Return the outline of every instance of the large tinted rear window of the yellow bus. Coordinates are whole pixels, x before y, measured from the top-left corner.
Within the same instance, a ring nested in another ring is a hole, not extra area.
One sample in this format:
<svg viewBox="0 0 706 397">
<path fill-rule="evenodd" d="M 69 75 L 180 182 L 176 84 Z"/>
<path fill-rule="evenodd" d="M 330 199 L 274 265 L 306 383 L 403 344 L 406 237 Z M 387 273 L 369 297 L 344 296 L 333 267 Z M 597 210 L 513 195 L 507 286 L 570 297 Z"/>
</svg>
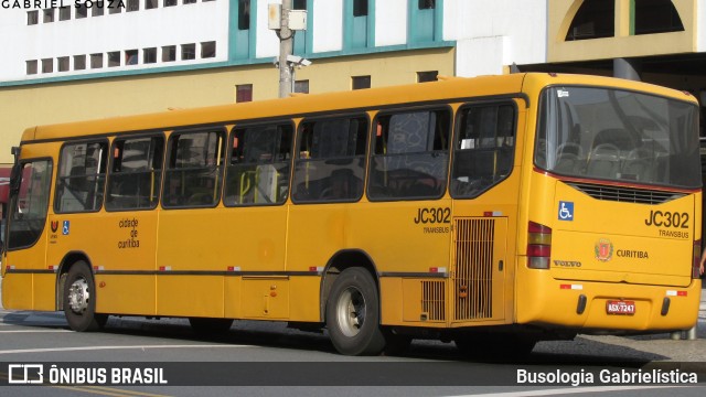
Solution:
<svg viewBox="0 0 706 397">
<path fill-rule="evenodd" d="M 698 189 L 697 107 L 628 90 L 543 92 L 535 164 L 559 175 Z"/>
</svg>

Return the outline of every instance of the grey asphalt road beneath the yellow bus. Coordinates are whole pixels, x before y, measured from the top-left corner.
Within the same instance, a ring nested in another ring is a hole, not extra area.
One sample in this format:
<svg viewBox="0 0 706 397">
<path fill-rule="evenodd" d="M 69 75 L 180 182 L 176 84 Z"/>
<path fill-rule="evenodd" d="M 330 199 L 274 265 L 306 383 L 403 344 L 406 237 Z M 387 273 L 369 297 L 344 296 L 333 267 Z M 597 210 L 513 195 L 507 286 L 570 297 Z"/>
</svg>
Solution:
<svg viewBox="0 0 706 397">
<path fill-rule="evenodd" d="M 2 386 L 0 395 L 703 396 L 706 384 L 675 387 L 598 382 L 603 369 L 610 374 L 678 369 L 698 373 L 699 379 L 706 380 L 706 298 L 702 299 L 699 340 L 675 341 L 666 334 L 579 336 L 542 342 L 522 362 L 468 360 L 452 344 L 428 341 L 415 341 L 404 356 L 347 357 L 335 353 L 325 334 L 268 322 L 236 322 L 217 339 L 197 337 L 181 319 L 111 318 L 104 332 L 75 333 L 67 330 L 62 313 L 0 309 L 0 385 L 7 385 L 10 376 L 17 378 L 17 374 L 9 374 L 9 365 L 20 363 L 43 364 L 45 377 L 52 364 L 68 368 L 66 376 L 71 371 L 77 376 L 76 368 L 94 374 L 103 368 L 107 378 L 114 368 L 130 369 L 132 380 L 137 372 L 158 368 L 168 382 L 154 386 Z M 517 385 L 521 371 L 568 374 L 577 386 Z M 596 378 L 587 379 L 589 373 Z M 146 377 L 141 375 L 140 380 Z"/>
</svg>

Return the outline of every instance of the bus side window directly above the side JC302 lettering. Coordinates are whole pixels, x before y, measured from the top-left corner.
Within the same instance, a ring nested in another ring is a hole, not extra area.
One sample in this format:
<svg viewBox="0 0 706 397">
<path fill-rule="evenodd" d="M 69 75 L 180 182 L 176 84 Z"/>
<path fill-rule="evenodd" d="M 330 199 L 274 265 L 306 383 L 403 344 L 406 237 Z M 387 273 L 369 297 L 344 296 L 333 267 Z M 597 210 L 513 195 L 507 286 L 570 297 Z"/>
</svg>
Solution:
<svg viewBox="0 0 706 397">
<path fill-rule="evenodd" d="M 450 111 L 383 115 L 374 122 L 368 197 L 439 198 L 446 191 Z"/>
</svg>

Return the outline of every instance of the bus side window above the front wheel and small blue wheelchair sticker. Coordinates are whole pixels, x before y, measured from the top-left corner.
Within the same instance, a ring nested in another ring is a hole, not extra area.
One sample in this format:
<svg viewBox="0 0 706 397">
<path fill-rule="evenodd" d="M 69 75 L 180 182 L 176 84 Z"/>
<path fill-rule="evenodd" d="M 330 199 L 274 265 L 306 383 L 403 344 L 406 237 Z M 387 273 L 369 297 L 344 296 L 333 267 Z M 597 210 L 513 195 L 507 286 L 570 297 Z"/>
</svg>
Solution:
<svg viewBox="0 0 706 397">
<path fill-rule="evenodd" d="M 65 144 L 58 160 L 54 211 L 77 213 L 100 210 L 107 160 L 107 141 Z"/>
</svg>

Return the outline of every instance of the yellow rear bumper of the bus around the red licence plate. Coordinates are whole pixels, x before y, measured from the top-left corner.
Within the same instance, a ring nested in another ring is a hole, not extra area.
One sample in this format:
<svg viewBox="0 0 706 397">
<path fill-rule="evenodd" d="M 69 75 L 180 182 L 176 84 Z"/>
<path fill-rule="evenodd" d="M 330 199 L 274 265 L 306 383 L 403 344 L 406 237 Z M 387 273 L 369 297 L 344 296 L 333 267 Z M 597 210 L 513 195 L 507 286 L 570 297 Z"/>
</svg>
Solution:
<svg viewBox="0 0 706 397">
<path fill-rule="evenodd" d="M 625 333 L 686 330 L 698 319 L 702 281 L 688 287 L 555 280 L 544 270 L 517 278 L 515 322 L 579 332 Z M 607 302 L 634 302 L 633 314 L 609 314 Z"/>
</svg>

